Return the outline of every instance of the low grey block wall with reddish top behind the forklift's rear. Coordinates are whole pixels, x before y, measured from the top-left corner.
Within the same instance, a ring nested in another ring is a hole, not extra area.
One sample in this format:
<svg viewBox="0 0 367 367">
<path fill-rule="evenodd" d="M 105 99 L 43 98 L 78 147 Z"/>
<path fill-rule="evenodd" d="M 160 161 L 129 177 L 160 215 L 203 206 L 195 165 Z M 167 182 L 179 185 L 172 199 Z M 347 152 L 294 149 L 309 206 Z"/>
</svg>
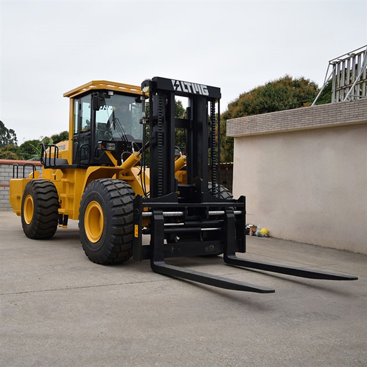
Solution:
<svg viewBox="0 0 367 367">
<path fill-rule="evenodd" d="M 11 160 L 11 159 L 0 159 L 0 210 L 13 210 L 9 204 L 9 181 L 13 178 L 13 165 L 18 164 L 18 178 L 23 177 L 23 166 L 24 176 L 32 172 L 32 166 L 28 164 L 34 164 L 37 171 L 40 171 L 42 175 L 42 165 L 38 161 L 28 160 Z M 17 177 L 17 168 L 14 169 L 15 178 Z"/>
</svg>

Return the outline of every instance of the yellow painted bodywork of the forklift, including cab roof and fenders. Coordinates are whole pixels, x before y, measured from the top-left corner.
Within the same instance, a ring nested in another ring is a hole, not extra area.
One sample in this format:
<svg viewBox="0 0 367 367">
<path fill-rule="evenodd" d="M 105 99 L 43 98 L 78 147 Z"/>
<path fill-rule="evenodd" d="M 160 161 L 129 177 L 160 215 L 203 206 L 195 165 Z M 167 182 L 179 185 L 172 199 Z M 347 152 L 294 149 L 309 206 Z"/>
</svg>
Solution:
<svg viewBox="0 0 367 367">
<path fill-rule="evenodd" d="M 141 88 L 136 85 L 122 84 L 105 80 L 91 81 L 83 84 L 77 88 L 74 88 L 64 94 L 64 97 L 70 99 L 70 111 L 69 111 L 69 140 L 60 142 L 58 147 L 58 158 L 66 159 L 68 164 L 72 164 L 73 157 L 73 132 L 75 130 L 75 111 L 74 100 L 80 95 L 87 93 L 90 90 L 111 90 L 126 92 L 129 95 L 142 96 L 143 92 Z M 54 151 L 50 152 L 46 150 L 46 154 L 50 155 L 50 158 L 54 157 Z M 118 164 L 114 156 L 106 151 L 106 154 L 110 158 L 113 166 L 101 165 L 101 166 L 89 166 L 87 168 L 43 168 L 42 177 L 39 176 L 39 171 L 31 173 L 28 178 L 13 178 L 10 180 L 10 204 L 13 207 L 13 211 L 20 216 L 22 197 L 27 182 L 31 179 L 43 178 L 53 182 L 57 189 L 59 198 L 59 214 L 67 215 L 69 219 L 78 219 L 79 207 L 81 197 L 86 186 L 93 180 L 99 178 L 117 178 L 127 182 L 135 195 L 144 195 L 143 182 L 146 192 L 149 192 L 149 168 L 141 171 L 137 164 L 140 161 L 141 154 L 133 152 L 122 164 Z M 177 159 L 175 164 L 176 177 L 178 182 L 184 182 L 186 179 L 186 172 L 180 170 L 186 164 L 186 157 L 181 156 Z M 144 172 L 145 177 L 143 177 Z"/>
</svg>

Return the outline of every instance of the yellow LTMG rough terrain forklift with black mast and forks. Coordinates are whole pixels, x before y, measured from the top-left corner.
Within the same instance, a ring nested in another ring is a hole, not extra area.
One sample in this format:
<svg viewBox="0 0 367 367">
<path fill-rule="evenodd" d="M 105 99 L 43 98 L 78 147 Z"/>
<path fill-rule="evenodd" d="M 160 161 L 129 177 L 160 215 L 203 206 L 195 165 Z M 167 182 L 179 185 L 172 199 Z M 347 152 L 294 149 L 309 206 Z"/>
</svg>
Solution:
<svg viewBox="0 0 367 367">
<path fill-rule="evenodd" d="M 185 118 L 175 117 L 176 96 L 187 98 Z M 42 178 L 32 167 L 28 177 L 10 182 L 10 202 L 27 237 L 50 238 L 77 219 L 83 250 L 95 263 L 150 259 L 155 272 L 232 290 L 274 292 L 165 258 L 223 254 L 234 266 L 357 279 L 236 256 L 246 251 L 245 197 L 235 200 L 220 185 L 220 88 L 154 77 L 141 87 L 92 81 L 64 97 L 69 140 L 42 145 Z M 176 129 L 185 132 L 186 155 Z"/>
</svg>

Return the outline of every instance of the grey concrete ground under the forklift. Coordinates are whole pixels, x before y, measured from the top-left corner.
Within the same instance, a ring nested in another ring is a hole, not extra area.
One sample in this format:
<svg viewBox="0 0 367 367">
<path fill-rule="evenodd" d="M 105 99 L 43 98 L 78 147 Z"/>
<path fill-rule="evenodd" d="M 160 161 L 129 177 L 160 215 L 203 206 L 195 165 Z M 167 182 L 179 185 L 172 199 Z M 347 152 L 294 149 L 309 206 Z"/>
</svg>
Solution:
<svg viewBox="0 0 367 367">
<path fill-rule="evenodd" d="M 0 231 L 2 367 L 367 365 L 366 255 L 247 237 L 250 259 L 359 277 L 343 282 L 245 270 L 220 256 L 170 260 L 276 289 L 255 294 L 167 278 L 148 261 L 91 263 L 73 221 L 35 241 L 0 212 Z"/>
</svg>

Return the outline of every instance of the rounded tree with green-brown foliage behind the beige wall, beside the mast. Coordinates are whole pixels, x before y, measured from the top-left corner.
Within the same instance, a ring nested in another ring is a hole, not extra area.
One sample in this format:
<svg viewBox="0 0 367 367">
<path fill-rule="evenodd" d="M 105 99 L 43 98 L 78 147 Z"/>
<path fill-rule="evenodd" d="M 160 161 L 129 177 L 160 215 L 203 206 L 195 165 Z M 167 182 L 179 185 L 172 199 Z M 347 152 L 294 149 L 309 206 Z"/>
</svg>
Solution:
<svg viewBox="0 0 367 367">
<path fill-rule="evenodd" d="M 226 136 L 227 120 L 311 106 L 318 91 L 318 85 L 309 79 L 285 75 L 241 94 L 221 115 L 221 161 L 233 161 L 233 138 Z"/>
</svg>

